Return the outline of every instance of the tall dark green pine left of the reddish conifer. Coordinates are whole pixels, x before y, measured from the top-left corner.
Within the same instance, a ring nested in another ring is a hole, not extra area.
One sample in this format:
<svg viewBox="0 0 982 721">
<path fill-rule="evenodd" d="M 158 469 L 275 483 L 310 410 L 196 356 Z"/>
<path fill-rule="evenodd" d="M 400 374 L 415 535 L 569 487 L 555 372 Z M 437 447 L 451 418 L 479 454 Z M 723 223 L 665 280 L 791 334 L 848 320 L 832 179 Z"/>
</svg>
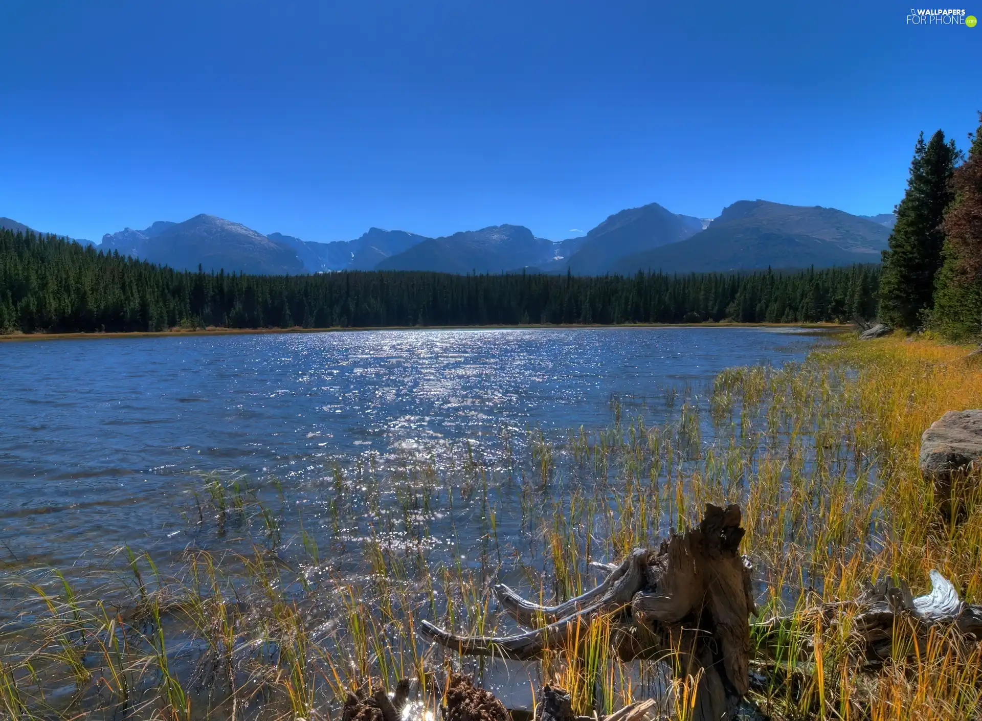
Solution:
<svg viewBox="0 0 982 721">
<path fill-rule="evenodd" d="M 955 143 L 946 142 L 941 131 L 927 144 L 923 133 L 917 139 L 907 191 L 897 206 L 890 250 L 883 251 L 880 319 L 888 325 L 913 330 L 931 308 L 935 274 L 942 264 L 942 223 L 952 201 L 949 183 L 957 155 Z"/>
</svg>

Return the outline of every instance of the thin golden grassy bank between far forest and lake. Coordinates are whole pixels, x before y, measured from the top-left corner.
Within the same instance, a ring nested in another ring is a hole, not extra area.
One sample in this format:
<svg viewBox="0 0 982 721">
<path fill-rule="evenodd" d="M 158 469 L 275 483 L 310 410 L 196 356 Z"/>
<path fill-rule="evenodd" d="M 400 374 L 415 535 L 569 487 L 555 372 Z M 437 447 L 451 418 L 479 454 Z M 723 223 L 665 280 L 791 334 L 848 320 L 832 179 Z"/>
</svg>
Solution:
<svg viewBox="0 0 982 721">
<path fill-rule="evenodd" d="M 596 330 L 599 328 L 801 328 L 845 332 L 849 323 L 619 323 L 550 325 L 385 325 L 352 328 L 196 328 L 194 330 L 116 331 L 108 333 L 9 333 L 0 335 L 0 343 L 19 341 L 98 340 L 103 338 L 167 338 L 181 336 L 275 335 L 294 333 L 364 333 L 373 330 Z"/>
</svg>

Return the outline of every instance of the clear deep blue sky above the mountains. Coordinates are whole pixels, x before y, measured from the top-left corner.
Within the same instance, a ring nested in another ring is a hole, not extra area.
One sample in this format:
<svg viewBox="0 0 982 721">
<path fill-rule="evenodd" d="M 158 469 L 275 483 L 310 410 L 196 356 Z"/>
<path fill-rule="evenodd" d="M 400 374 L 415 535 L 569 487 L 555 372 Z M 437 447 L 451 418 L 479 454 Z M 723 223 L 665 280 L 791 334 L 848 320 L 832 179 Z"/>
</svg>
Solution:
<svg viewBox="0 0 982 721">
<path fill-rule="evenodd" d="M 982 26 L 909 5 L 3 0 L 0 215 L 559 240 L 652 201 L 888 211 L 918 131 L 964 147 L 982 109 Z"/>
</svg>

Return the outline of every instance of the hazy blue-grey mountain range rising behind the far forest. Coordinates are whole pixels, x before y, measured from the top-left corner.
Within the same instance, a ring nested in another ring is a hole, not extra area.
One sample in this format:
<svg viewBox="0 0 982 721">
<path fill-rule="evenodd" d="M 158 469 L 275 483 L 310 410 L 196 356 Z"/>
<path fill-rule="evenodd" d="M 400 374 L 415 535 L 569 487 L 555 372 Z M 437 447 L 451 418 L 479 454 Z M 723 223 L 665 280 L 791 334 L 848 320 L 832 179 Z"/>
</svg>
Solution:
<svg viewBox="0 0 982 721">
<path fill-rule="evenodd" d="M 447 273 L 542 272 L 602 275 L 638 270 L 682 273 L 875 263 L 895 216 L 850 215 L 835 208 L 739 200 L 714 219 L 673 213 L 658 203 L 609 216 L 585 236 L 551 241 L 518 225 L 427 238 L 370 228 L 352 241 L 317 243 L 214 215 L 106 234 L 96 248 L 179 270 L 260 274 L 338 270 Z M 0 218 L 0 227 L 27 226 Z M 78 241 L 94 245 L 90 241 Z"/>
</svg>

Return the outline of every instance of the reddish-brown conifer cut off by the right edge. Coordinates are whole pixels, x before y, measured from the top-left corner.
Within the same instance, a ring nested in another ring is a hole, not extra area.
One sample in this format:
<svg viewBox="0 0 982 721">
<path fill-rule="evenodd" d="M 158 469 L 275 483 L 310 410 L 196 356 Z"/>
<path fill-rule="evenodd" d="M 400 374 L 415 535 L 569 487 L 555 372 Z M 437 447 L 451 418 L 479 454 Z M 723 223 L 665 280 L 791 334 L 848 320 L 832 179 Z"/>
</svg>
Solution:
<svg viewBox="0 0 982 721">
<path fill-rule="evenodd" d="M 955 200 L 945 214 L 944 266 L 938 273 L 934 320 L 952 340 L 982 331 L 982 113 L 968 159 L 952 178 Z"/>
</svg>

